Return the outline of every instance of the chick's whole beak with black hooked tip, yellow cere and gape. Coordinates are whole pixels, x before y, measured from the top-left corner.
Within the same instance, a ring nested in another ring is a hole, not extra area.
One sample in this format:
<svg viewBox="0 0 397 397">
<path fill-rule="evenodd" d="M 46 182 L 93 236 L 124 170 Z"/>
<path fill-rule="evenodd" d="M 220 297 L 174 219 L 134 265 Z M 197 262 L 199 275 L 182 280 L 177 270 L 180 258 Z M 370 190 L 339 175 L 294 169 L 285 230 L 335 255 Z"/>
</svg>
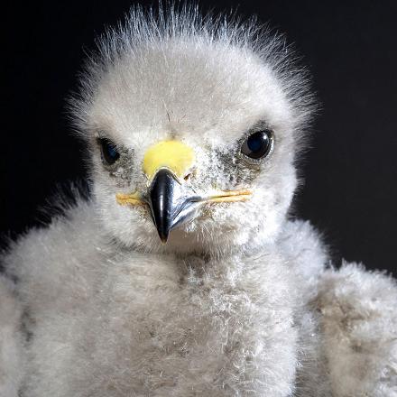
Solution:
<svg viewBox="0 0 397 397">
<path fill-rule="evenodd" d="M 162 243 L 170 232 L 194 217 L 203 203 L 245 201 L 250 190 L 218 191 L 216 194 L 199 195 L 184 182 L 195 161 L 194 152 L 179 141 L 162 141 L 148 149 L 143 158 L 143 172 L 149 186 L 143 193 L 117 193 L 121 205 L 148 205 L 154 226 Z"/>
</svg>

